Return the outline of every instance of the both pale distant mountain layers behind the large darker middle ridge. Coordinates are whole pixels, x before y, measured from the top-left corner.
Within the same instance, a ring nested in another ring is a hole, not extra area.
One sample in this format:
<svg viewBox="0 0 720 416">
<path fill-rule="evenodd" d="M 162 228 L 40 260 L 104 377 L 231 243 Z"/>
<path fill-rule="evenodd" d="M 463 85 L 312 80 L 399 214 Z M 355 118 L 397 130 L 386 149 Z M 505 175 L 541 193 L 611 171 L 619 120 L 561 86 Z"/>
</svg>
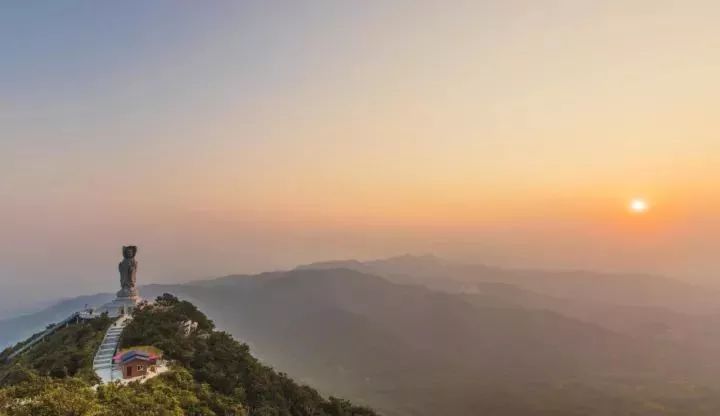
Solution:
<svg viewBox="0 0 720 416">
<path fill-rule="evenodd" d="M 720 332 L 713 330 L 720 323 L 720 294 L 660 276 L 509 270 L 411 255 L 313 263 L 298 270 L 336 268 L 463 294 L 471 303 L 551 310 L 627 335 L 720 348 Z"/>
</svg>

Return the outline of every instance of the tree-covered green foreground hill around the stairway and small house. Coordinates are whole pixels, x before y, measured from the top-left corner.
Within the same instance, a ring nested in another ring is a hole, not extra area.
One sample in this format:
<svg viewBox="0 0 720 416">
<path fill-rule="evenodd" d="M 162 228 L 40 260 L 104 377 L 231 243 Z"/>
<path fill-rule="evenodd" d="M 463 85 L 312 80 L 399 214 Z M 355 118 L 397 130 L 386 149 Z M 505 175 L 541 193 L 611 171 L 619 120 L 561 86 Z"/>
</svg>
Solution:
<svg viewBox="0 0 720 416">
<path fill-rule="evenodd" d="M 189 333 L 183 323 L 197 323 Z M 144 384 L 92 388 L 94 349 L 110 321 L 58 330 L 10 363 L 0 355 L 2 416 L 374 416 L 364 407 L 325 399 L 254 358 L 245 344 L 216 331 L 193 304 L 163 295 L 139 308 L 122 346 L 152 345 L 171 371 Z"/>
</svg>

